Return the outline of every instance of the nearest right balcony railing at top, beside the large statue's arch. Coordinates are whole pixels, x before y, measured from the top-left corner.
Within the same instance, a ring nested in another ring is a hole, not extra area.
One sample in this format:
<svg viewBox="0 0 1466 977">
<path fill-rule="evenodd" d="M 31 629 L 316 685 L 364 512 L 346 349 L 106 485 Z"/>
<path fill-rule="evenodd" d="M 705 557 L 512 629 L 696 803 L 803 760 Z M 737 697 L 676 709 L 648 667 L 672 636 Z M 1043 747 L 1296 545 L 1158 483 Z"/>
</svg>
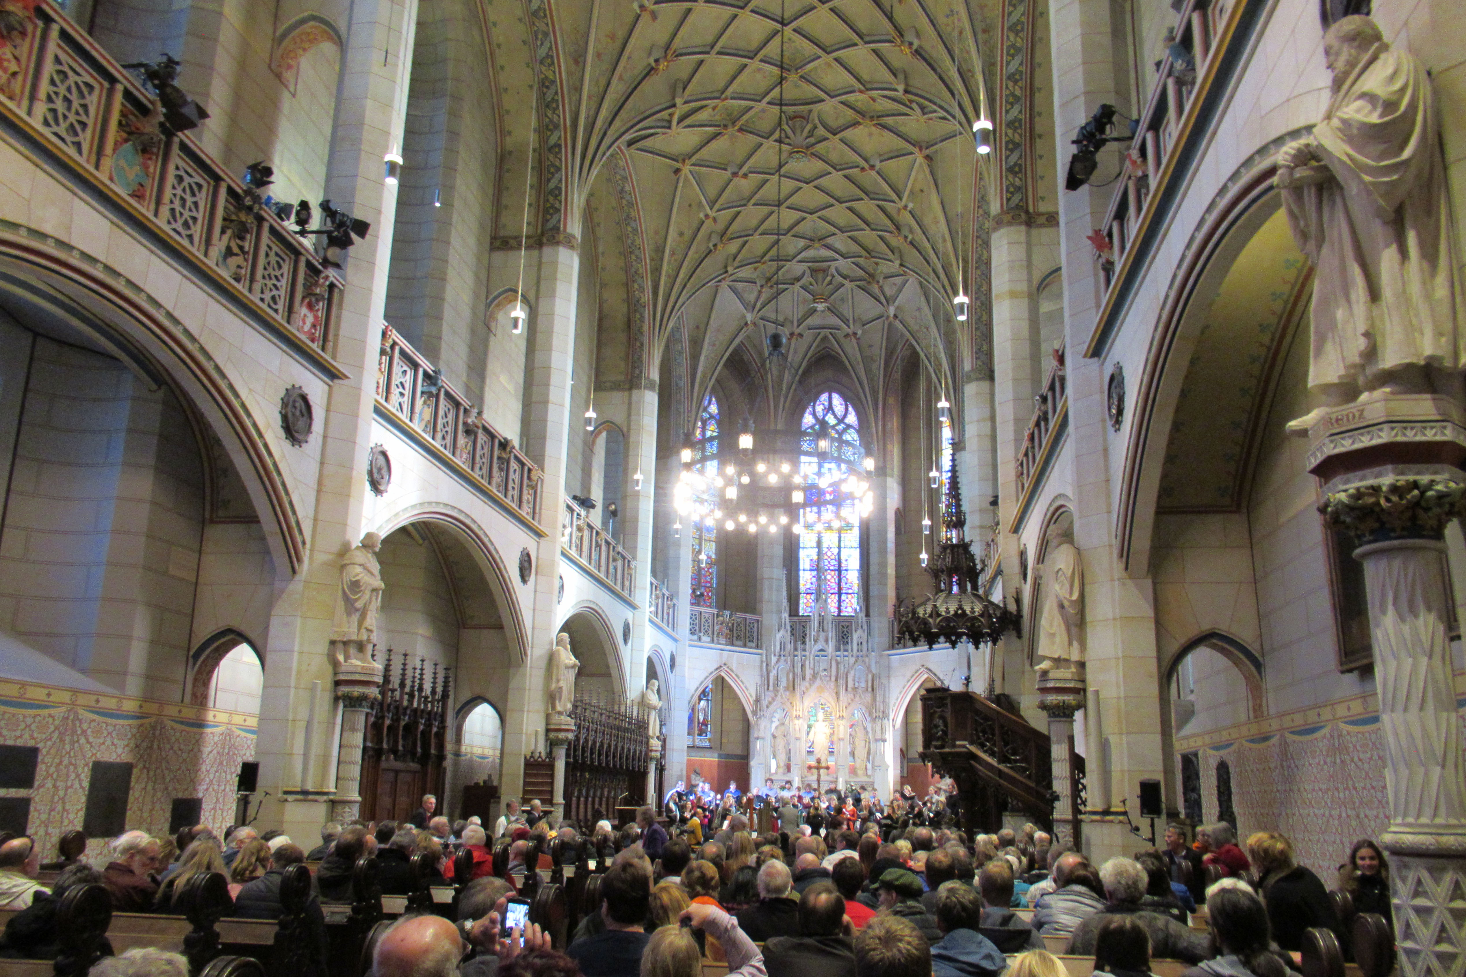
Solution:
<svg viewBox="0 0 1466 977">
<path fill-rule="evenodd" d="M 1088 356 L 1097 356 L 1101 337 L 1113 325 L 1111 308 L 1136 265 L 1136 246 L 1154 240 L 1157 207 L 1170 207 L 1171 185 L 1185 179 L 1211 126 L 1201 113 L 1214 113 L 1240 59 L 1224 57 L 1249 42 L 1265 0 L 1185 0 L 1168 37 L 1171 42 L 1157 69 L 1157 83 L 1141 113 L 1130 149 L 1123 158 L 1123 179 L 1091 236 L 1100 262 L 1102 309 Z M 1163 204 L 1165 201 L 1165 204 Z M 1143 249 L 1142 249 L 1143 250 Z M 1130 258 L 1130 261 L 1126 261 Z"/>
</svg>

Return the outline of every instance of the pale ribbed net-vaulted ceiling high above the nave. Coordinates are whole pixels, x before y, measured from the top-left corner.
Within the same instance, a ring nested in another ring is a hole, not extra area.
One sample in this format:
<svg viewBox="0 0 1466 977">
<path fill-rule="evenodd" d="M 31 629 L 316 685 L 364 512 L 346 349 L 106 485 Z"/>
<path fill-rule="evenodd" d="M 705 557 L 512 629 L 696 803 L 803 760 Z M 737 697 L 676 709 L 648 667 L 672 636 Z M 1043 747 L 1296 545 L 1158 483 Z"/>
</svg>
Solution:
<svg viewBox="0 0 1466 977">
<path fill-rule="evenodd" d="M 776 412 L 827 359 L 874 403 L 907 344 L 960 382 L 972 340 L 950 299 L 959 277 L 975 291 L 973 215 L 994 177 L 972 123 L 995 111 L 982 48 L 1001 0 L 488 3 L 532 38 L 541 151 L 564 166 L 541 177 L 563 195 L 541 205 L 547 230 L 619 242 L 601 278 L 629 280 L 648 374 L 674 328 L 695 388 L 740 346 L 762 363 L 780 330 Z"/>
</svg>

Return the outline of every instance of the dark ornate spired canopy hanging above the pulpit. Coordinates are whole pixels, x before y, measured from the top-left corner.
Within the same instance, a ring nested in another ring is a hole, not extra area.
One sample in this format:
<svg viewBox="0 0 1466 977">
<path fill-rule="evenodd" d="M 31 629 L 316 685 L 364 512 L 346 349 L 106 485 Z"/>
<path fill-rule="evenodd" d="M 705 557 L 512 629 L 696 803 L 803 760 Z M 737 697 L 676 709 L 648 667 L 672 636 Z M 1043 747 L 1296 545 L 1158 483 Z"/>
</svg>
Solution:
<svg viewBox="0 0 1466 977">
<path fill-rule="evenodd" d="M 1019 634 L 1022 627 L 1017 611 L 1010 611 L 981 592 L 985 568 L 978 564 L 972 555 L 972 543 L 965 538 L 968 517 L 962 511 L 956 458 L 951 461 L 950 479 L 943 542 L 927 567 L 935 593 L 921 603 L 907 598 L 896 608 L 897 640 L 921 643 L 928 649 L 938 642 L 953 647 L 960 642 L 970 642 L 973 646 L 995 643 L 1009 631 Z"/>
</svg>

